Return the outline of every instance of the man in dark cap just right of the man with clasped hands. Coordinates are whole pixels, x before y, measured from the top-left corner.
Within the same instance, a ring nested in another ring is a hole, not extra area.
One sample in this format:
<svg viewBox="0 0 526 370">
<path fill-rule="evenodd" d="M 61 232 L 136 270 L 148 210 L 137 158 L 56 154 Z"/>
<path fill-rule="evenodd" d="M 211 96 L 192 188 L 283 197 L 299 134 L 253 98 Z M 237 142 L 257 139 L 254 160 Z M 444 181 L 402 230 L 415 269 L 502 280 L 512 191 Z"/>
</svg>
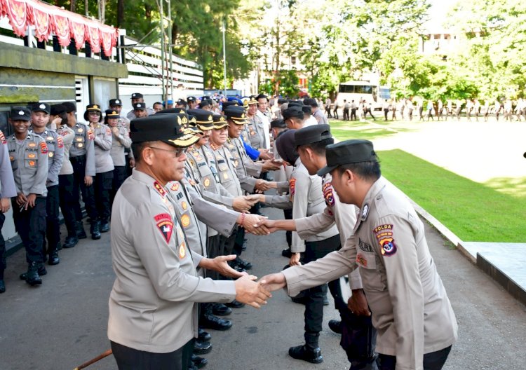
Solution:
<svg viewBox="0 0 526 370">
<path fill-rule="evenodd" d="M 32 104 L 32 127 L 29 130 L 29 133 L 39 135 L 44 141 L 46 141 L 46 145 L 48 146 L 48 180 L 46 181 L 46 186 L 48 188 L 48 195 L 46 196 L 46 237 L 48 239 L 48 246 L 46 249 L 44 242 L 43 254 L 44 259 L 46 259 L 46 255 L 49 256 L 49 265 L 58 265 L 58 263 L 60 263 L 58 249 L 62 248 L 60 246 L 60 221 L 58 219 L 58 174 L 60 173 L 62 160 L 64 158 L 64 142 L 57 132 L 46 128 L 46 125 L 49 123 L 49 118 L 49 104 Z"/>
</svg>

